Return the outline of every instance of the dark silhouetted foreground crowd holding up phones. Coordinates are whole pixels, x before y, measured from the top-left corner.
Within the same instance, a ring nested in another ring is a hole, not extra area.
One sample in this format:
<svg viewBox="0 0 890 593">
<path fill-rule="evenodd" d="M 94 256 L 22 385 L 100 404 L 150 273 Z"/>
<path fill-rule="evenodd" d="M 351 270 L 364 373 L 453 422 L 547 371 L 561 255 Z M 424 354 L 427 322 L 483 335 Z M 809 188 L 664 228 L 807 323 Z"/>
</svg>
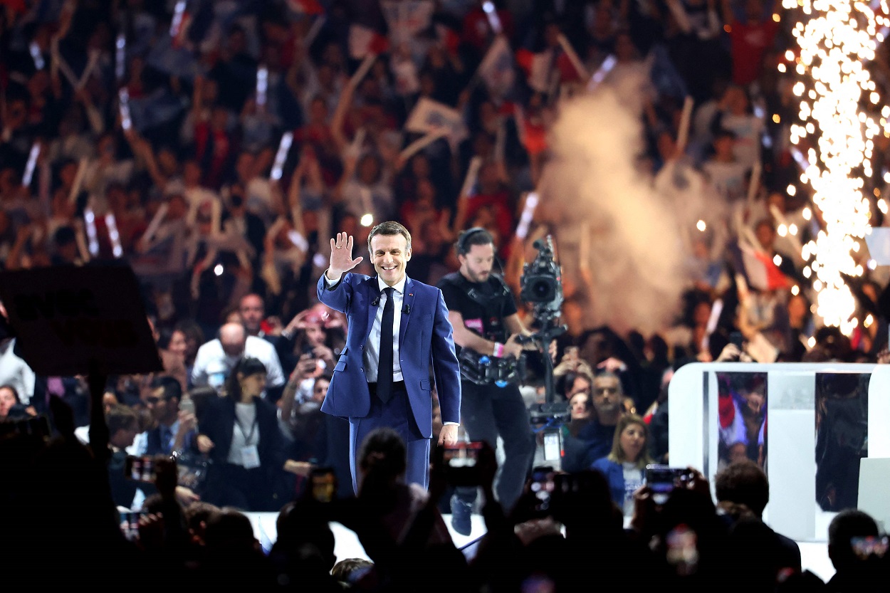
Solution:
<svg viewBox="0 0 890 593">
<path fill-rule="evenodd" d="M 247 361 L 239 366 L 238 377 L 247 385 L 242 395 L 263 382 L 261 363 Z M 93 410 L 88 443 L 78 439 L 72 410 L 59 398 L 52 401 L 52 438 L 49 426 L 0 425 L 7 484 L 0 508 L 4 533 L 18 544 L 6 553 L 17 569 L 4 577 L 12 589 L 35 581 L 106 589 L 128 576 L 127 587 L 137 590 L 170 582 L 310 591 L 888 588 L 887 538 L 871 516 L 854 508 L 839 512 L 829 525 L 829 557 L 836 569 L 830 581 L 802 571 L 797 544 L 762 521 L 769 483 L 748 459 L 717 473 L 716 503 L 708 480 L 692 468 L 684 479 L 668 483 L 667 491 L 643 484 L 634 491 L 626 527 L 615 501 L 616 495 L 624 499 L 626 487 L 619 484 L 616 492 L 613 472 L 599 463 L 595 467 L 603 472 L 532 475 L 506 510 L 494 492 L 496 451 L 483 444 L 473 483 L 481 488 L 487 531 L 470 558 L 455 547 L 437 504 L 457 483 L 442 449 L 431 459 L 428 490 L 405 483 L 406 444 L 386 427 L 362 443 L 357 494 L 338 498 L 318 487 L 325 483 L 312 483 L 282 501 L 269 549 L 256 539 L 243 508 L 203 500 L 183 504 L 180 467 L 168 455 L 149 458 L 150 472 L 145 467 L 137 472 L 135 479 L 153 489 L 142 512 L 119 512 L 111 497 L 115 477 L 105 468 L 116 465 L 118 448 L 127 440 L 121 433 L 128 432 L 132 442 L 135 418 L 116 404 L 104 411 L 105 378 L 87 379 Z M 619 426 L 610 462 L 644 457 L 642 418 L 627 415 Z M 255 483 L 249 471 L 239 477 Z M 459 483 L 468 483 L 466 474 Z M 262 494 L 256 487 L 241 496 Z M 330 521 L 356 532 L 369 559 L 336 557 Z M 733 570 L 740 562 L 745 569 Z M 45 570 L 47 563 L 52 571 Z"/>
</svg>

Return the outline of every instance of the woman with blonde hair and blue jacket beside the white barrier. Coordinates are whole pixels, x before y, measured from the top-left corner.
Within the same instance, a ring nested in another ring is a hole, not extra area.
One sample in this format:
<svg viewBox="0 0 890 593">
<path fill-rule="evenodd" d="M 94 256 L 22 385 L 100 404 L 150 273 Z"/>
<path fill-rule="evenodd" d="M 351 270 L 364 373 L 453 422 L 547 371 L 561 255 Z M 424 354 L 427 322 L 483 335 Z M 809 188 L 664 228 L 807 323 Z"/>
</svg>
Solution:
<svg viewBox="0 0 890 593">
<path fill-rule="evenodd" d="M 636 414 L 622 416 L 615 426 L 615 438 L 609 455 L 597 459 L 591 466 L 609 481 L 612 500 L 624 510 L 634 512 L 634 491 L 643 485 L 646 465 L 652 463 L 647 444 L 649 427 Z"/>
</svg>

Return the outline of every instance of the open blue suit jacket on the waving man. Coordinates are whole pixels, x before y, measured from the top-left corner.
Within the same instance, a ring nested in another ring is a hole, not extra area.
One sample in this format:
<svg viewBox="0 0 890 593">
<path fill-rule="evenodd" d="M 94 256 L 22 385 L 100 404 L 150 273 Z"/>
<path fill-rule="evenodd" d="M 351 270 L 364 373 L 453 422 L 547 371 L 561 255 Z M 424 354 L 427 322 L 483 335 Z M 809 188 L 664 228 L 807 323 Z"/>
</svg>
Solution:
<svg viewBox="0 0 890 593">
<path fill-rule="evenodd" d="M 344 418 L 364 418 L 371 405 L 364 348 L 379 306 L 371 304 L 380 296 L 376 276 L 346 273 L 328 288 L 322 274 L 318 294 L 322 303 L 345 313 L 349 323 L 346 347 L 334 367 L 321 410 Z M 399 362 L 417 429 L 426 438 L 433 435 L 431 366 L 442 421 L 460 421 L 460 368 L 451 334 L 448 307 L 441 290 L 409 278 L 401 312 Z"/>
</svg>

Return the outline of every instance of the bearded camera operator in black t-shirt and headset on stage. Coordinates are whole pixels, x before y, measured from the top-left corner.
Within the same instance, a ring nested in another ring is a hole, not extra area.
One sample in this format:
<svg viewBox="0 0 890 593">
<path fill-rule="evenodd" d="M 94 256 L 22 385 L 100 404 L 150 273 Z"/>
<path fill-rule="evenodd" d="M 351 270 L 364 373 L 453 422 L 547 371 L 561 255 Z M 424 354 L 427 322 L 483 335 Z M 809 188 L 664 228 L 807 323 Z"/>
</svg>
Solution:
<svg viewBox="0 0 890 593">
<path fill-rule="evenodd" d="M 472 350 L 480 357 L 488 357 L 491 364 L 510 356 L 519 359 L 523 348 L 535 346 L 517 342 L 517 337 L 528 335 L 529 331 L 516 314 L 510 289 L 491 273 L 495 248 L 490 233 L 473 227 L 460 234 L 456 248 L 460 270 L 442 278 L 438 287 L 449 308 L 458 352 Z M 505 459 L 495 491 L 501 505 L 511 508 L 522 493 L 535 450 L 529 412 L 518 385 L 498 381 L 503 385 L 498 386 L 470 380 L 468 374 L 477 370 L 469 368 L 472 363 L 468 360 L 469 357 L 461 357 L 461 424 L 471 439 L 485 441 L 492 449 L 498 446 L 498 435 L 503 439 Z M 451 498 L 451 522 L 458 533 L 470 532 L 475 498 L 473 487 L 457 488 Z"/>
</svg>

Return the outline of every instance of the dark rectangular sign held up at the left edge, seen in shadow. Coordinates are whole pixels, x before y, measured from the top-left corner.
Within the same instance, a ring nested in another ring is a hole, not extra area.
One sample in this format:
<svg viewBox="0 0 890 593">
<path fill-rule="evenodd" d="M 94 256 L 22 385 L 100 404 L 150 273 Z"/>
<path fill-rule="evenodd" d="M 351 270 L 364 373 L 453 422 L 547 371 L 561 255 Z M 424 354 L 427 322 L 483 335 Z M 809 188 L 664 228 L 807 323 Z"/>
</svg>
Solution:
<svg viewBox="0 0 890 593">
<path fill-rule="evenodd" d="M 21 357 L 38 375 L 162 370 L 131 268 L 58 266 L 0 273 Z"/>
</svg>

